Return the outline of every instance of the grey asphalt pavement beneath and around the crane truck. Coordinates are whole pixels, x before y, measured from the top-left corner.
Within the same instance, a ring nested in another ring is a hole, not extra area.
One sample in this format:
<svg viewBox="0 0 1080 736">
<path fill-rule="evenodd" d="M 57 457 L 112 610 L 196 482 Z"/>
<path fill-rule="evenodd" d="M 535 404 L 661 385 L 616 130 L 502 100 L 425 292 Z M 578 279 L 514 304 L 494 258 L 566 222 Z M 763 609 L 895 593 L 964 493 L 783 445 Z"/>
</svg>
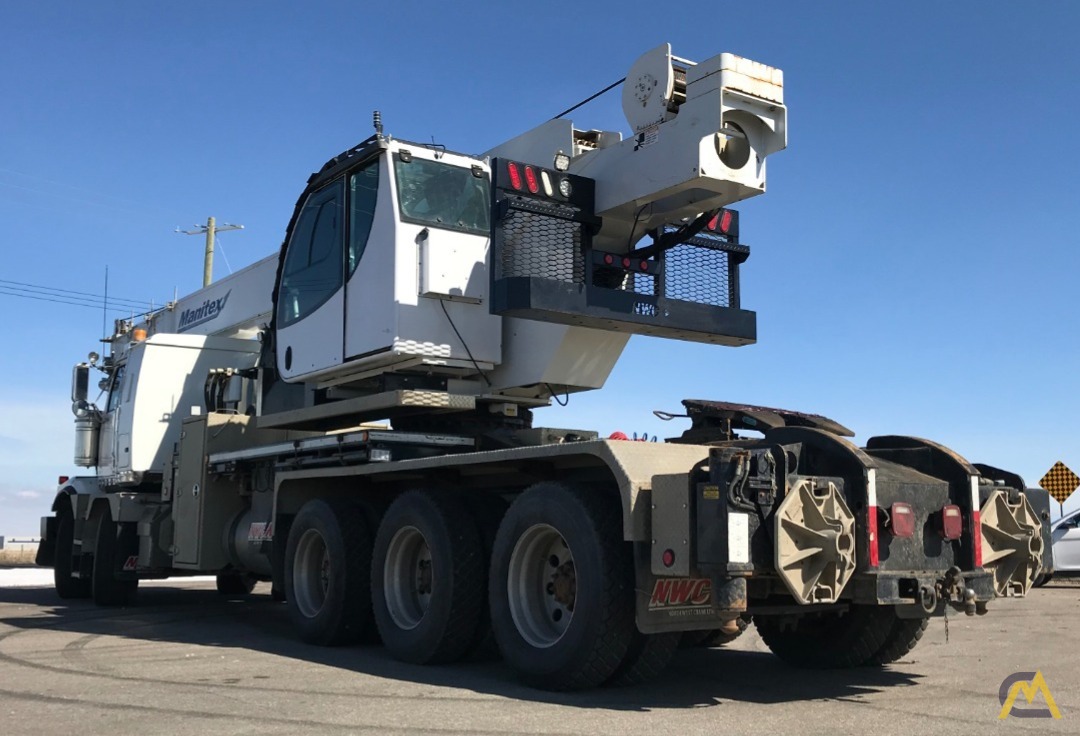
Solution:
<svg viewBox="0 0 1080 736">
<path fill-rule="evenodd" d="M 793 669 L 752 628 L 679 652 L 648 685 L 553 694 L 499 661 L 419 667 L 376 645 L 308 646 L 267 586 L 227 599 L 205 580 L 144 584 L 137 605 L 106 610 L 11 580 L 0 571 L 5 735 L 1080 734 L 1080 587 L 1057 581 L 953 616 L 947 632 L 935 619 L 886 669 Z M 999 719 L 1001 683 L 1035 671 L 1062 718 Z"/>
</svg>

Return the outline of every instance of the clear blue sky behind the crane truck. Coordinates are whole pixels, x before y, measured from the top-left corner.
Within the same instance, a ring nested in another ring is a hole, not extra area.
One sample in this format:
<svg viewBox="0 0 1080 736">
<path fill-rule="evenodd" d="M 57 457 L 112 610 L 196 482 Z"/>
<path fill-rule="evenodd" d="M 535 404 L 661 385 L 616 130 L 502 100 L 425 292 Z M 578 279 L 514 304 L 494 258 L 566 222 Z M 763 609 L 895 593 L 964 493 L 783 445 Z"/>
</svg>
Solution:
<svg viewBox="0 0 1080 736">
<path fill-rule="evenodd" d="M 271 253 L 374 109 L 483 151 L 659 43 L 730 51 L 782 68 L 788 106 L 769 193 L 740 206 L 758 344 L 635 337 L 603 390 L 538 421 L 665 437 L 684 425 L 653 409 L 745 401 L 1034 485 L 1080 471 L 1078 22 L 1071 2 L 8 2 L 0 279 L 100 294 L 107 266 L 110 295 L 161 304 L 201 283 L 202 240 L 174 227 L 243 224 L 220 238 L 232 269 Z M 570 117 L 627 130 L 617 92 Z M 102 313 L 0 309 L 0 534 L 29 534 L 76 470 L 69 372 Z"/>
</svg>

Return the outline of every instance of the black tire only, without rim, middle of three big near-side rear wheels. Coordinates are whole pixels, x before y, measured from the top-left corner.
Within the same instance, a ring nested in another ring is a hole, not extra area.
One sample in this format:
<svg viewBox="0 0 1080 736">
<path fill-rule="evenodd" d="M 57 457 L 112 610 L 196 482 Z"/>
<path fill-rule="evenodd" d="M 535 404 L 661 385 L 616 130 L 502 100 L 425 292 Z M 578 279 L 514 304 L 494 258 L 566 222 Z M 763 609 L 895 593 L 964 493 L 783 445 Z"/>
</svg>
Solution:
<svg viewBox="0 0 1080 736">
<path fill-rule="evenodd" d="M 394 535 L 413 526 L 431 552 L 431 599 L 419 623 L 405 629 L 387 606 L 386 558 Z M 476 522 L 451 492 L 409 491 L 382 517 L 372 558 L 372 604 L 382 645 L 401 661 L 434 665 L 469 653 L 487 603 L 484 548 Z"/>
</svg>

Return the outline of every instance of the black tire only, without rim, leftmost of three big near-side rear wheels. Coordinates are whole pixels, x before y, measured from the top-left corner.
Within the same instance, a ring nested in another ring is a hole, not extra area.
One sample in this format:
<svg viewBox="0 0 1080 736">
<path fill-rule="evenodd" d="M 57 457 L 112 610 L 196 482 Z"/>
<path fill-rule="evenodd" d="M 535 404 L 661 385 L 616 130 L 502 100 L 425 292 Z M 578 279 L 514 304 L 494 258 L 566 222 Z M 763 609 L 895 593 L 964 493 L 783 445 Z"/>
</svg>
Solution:
<svg viewBox="0 0 1080 736">
<path fill-rule="evenodd" d="M 309 530 L 326 546 L 329 584 L 322 607 L 306 616 L 296 602 L 296 548 Z M 293 520 L 285 545 L 285 600 L 300 639 L 320 646 L 352 644 L 372 624 L 372 533 L 363 513 L 339 500 L 309 500 Z"/>
</svg>

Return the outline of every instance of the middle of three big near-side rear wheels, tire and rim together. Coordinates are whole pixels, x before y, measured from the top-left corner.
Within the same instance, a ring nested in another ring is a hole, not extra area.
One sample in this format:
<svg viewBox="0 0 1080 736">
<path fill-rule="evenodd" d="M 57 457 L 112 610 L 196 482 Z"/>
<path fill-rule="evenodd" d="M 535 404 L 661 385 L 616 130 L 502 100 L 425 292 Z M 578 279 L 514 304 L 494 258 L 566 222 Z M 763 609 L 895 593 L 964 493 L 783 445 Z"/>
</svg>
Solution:
<svg viewBox="0 0 1080 736">
<path fill-rule="evenodd" d="M 372 601 L 395 658 L 427 665 L 464 656 L 486 587 L 480 532 L 456 494 L 410 491 L 390 505 L 375 537 Z"/>
</svg>

